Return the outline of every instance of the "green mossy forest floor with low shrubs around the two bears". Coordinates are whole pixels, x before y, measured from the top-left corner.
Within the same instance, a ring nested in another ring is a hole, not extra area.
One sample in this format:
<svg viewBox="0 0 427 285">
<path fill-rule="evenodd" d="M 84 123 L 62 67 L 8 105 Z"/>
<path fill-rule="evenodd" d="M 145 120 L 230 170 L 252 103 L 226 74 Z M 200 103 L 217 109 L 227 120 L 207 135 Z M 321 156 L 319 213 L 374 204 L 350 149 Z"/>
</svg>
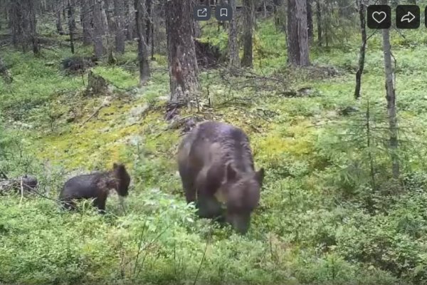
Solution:
<svg viewBox="0 0 427 285">
<path fill-rule="evenodd" d="M 204 39 L 226 43 L 214 30 Z M 93 68 L 114 87 L 90 97 L 87 76 L 60 70 L 66 46 L 38 58 L 2 49 L 14 76 L 11 85 L 0 81 L 0 146 L 11 152 L 1 167 L 9 176 L 36 175 L 54 198 L 68 177 L 123 162 L 132 185 L 126 212 L 113 195 L 104 217 L 88 207 L 63 212 L 42 197 L 1 197 L 0 282 L 427 284 L 427 36 L 393 32 L 391 42 L 404 190 L 389 170 L 379 34 L 369 40 L 359 101 L 356 36 L 313 48 L 313 67 L 295 71 L 285 64 L 283 33 L 265 21 L 253 71 L 201 72 L 201 109 L 181 110 L 179 118 L 243 128 L 255 167 L 266 170 L 244 237 L 197 219 L 185 203 L 174 159 L 182 129 L 164 119 L 167 58 L 156 54 L 152 80 L 137 88 L 135 46 L 128 46 L 115 66 Z"/>
</svg>

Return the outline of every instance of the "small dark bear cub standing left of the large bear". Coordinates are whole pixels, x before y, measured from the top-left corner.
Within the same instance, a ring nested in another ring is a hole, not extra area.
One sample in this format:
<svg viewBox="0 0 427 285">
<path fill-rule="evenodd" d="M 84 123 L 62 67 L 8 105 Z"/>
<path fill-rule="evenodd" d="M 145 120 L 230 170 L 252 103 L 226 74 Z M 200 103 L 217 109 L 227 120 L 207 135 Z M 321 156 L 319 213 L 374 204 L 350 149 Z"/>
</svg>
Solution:
<svg viewBox="0 0 427 285">
<path fill-rule="evenodd" d="M 73 199 L 94 199 L 93 204 L 103 213 L 110 189 L 116 190 L 120 197 L 126 197 L 129 185 L 130 175 L 125 165 L 114 163 L 110 171 L 70 178 L 60 191 L 59 199 L 67 209 L 75 207 Z"/>
</svg>

